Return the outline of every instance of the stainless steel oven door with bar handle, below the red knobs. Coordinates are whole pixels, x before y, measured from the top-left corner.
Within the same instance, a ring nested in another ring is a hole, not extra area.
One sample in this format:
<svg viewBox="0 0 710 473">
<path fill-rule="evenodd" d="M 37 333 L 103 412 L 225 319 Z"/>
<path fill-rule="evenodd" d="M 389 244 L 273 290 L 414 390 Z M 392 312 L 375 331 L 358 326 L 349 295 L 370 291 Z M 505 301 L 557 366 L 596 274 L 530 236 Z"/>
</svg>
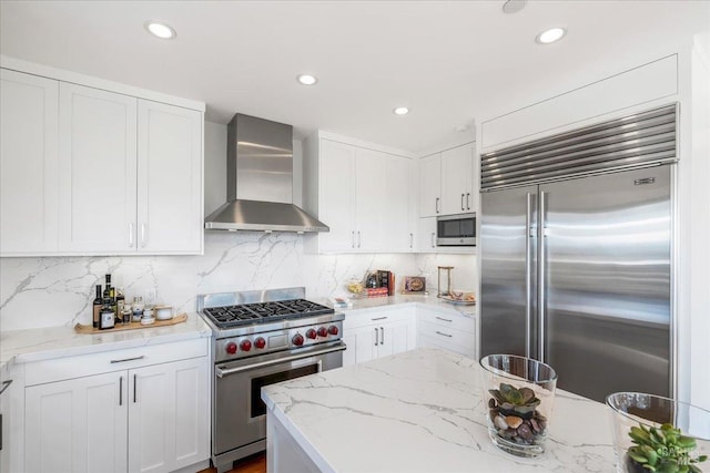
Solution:
<svg viewBox="0 0 710 473">
<path fill-rule="evenodd" d="M 214 367 L 213 454 L 266 438 L 266 405 L 261 389 L 268 384 L 343 366 L 342 340 Z"/>
</svg>

